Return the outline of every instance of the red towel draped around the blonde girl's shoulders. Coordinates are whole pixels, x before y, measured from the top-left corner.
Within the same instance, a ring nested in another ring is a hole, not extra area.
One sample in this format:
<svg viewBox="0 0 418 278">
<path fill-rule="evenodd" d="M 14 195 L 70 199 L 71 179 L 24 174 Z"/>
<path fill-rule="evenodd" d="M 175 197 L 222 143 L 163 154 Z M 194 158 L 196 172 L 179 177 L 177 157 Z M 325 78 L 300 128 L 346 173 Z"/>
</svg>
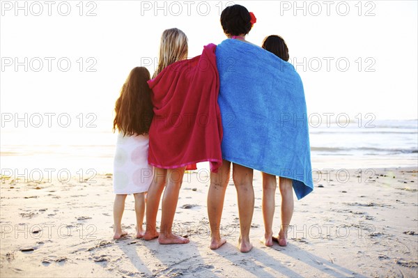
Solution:
<svg viewBox="0 0 418 278">
<path fill-rule="evenodd" d="M 210 170 L 217 172 L 222 164 L 215 49 L 216 45 L 206 45 L 200 56 L 173 63 L 148 81 L 154 105 L 151 165 L 173 169 L 208 161 Z"/>
</svg>

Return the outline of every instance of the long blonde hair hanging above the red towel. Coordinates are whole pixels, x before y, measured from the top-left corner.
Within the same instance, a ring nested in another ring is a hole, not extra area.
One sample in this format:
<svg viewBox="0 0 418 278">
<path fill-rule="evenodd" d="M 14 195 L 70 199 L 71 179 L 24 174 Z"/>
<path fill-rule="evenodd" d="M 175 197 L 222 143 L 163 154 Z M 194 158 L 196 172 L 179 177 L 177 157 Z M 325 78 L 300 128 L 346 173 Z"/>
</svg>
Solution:
<svg viewBox="0 0 418 278">
<path fill-rule="evenodd" d="M 161 35 L 158 68 L 154 72 L 153 78 L 168 65 L 187 58 L 188 52 L 187 36 L 183 31 L 177 28 L 164 30 Z"/>
</svg>

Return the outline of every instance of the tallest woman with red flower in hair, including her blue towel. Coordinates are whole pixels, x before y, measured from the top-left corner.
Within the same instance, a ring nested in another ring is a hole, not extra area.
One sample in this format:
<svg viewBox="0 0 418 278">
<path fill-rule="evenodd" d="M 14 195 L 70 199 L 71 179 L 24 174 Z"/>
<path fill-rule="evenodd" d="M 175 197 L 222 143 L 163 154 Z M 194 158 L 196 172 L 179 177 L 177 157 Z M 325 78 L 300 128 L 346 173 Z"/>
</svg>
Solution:
<svg viewBox="0 0 418 278">
<path fill-rule="evenodd" d="M 255 22 L 256 17 L 243 6 L 222 11 L 221 24 L 228 39 L 217 45 L 216 59 L 223 162 L 218 173 L 210 175 L 211 249 L 226 242 L 219 228 L 231 162 L 238 195 L 241 252 L 252 248 L 253 169 L 270 174 L 274 181 L 275 176 L 288 180 L 286 187 L 293 187 L 298 199 L 314 187 L 302 81 L 293 65 L 246 40 Z"/>
</svg>

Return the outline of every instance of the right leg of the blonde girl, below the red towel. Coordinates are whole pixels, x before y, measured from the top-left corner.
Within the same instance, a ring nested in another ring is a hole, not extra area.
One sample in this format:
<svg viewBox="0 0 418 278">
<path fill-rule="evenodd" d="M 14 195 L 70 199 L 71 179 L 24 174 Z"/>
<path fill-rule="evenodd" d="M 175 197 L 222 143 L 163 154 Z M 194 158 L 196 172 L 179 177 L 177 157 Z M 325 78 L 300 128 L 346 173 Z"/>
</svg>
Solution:
<svg viewBox="0 0 418 278">
<path fill-rule="evenodd" d="M 160 242 L 160 244 L 183 244 L 189 242 L 188 238 L 176 235 L 172 231 L 178 194 L 180 192 L 181 183 L 183 183 L 184 174 L 185 167 L 167 169 L 167 187 L 164 190 L 164 196 L 162 196 L 161 226 L 160 236 L 158 237 L 158 242 Z"/>
</svg>

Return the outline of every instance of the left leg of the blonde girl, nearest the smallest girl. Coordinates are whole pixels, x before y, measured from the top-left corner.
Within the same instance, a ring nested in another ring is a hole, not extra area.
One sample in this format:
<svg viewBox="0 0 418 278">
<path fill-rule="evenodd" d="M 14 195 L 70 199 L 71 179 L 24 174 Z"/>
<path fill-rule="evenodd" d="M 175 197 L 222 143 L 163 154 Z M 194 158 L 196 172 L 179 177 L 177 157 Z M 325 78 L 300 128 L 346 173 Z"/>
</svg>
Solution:
<svg viewBox="0 0 418 278">
<path fill-rule="evenodd" d="M 158 237 L 157 213 L 160 206 L 160 199 L 166 184 L 167 169 L 154 168 L 153 182 L 148 189 L 146 202 L 146 231 L 144 240 L 152 240 Z"/>
</svg>

